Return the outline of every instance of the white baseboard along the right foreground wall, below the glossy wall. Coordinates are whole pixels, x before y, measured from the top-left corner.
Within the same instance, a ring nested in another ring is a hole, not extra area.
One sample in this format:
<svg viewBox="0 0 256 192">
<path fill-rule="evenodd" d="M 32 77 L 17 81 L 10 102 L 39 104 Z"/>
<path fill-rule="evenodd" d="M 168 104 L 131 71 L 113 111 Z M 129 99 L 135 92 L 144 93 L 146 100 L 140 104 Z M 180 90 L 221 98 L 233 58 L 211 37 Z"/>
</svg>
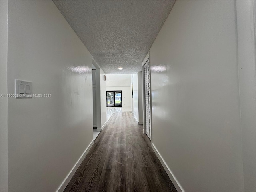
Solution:
<svg viewBox="0 0 256 192">
<path fill-rule="evenodd" d="M 178 182 L 177 178 L 174 176 L 174 174 L 172 173 L 172 171 L 170 170 L 170 168 L 168 167 L 168 165 L 166 164 L 164 158 L 161 156 L 161 154 L 158 152 L 158 150 L 156 149 L 156 147 L 154 146 L 153 143 L 151 143 L 151 147 L 153 148 L 154 152 L 156 153 L 156 156 L 158 157 L 158 159 L 160 160 L 162 166 L 164 167 L 164 170 L 166 171 L 166 173 L 168 174 L 168 176 L 170 177 L 170 180 L 172 181 L 172 183 L 174 184 L 176 190 L 178 192 L 185 192 L 184 189 L 182 188 L 182 186 L 180 185 L 180 183 Z"/>
</svg>

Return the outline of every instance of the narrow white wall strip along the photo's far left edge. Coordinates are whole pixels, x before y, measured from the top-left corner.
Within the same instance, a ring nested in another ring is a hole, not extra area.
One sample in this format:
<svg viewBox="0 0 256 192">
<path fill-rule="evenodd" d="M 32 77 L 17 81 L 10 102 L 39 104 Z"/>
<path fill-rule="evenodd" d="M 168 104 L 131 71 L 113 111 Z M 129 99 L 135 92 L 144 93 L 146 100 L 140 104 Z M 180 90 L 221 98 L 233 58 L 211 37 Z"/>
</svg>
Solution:
<svg viewBox="0 0 256 192">
<path fill-rule="evenodd" d="M 7 94 L 8 1 L 0 1 L 0 94 Z M 0 97 L 0 191 L 8 191 L 7 98 Z"/>
</svg>

